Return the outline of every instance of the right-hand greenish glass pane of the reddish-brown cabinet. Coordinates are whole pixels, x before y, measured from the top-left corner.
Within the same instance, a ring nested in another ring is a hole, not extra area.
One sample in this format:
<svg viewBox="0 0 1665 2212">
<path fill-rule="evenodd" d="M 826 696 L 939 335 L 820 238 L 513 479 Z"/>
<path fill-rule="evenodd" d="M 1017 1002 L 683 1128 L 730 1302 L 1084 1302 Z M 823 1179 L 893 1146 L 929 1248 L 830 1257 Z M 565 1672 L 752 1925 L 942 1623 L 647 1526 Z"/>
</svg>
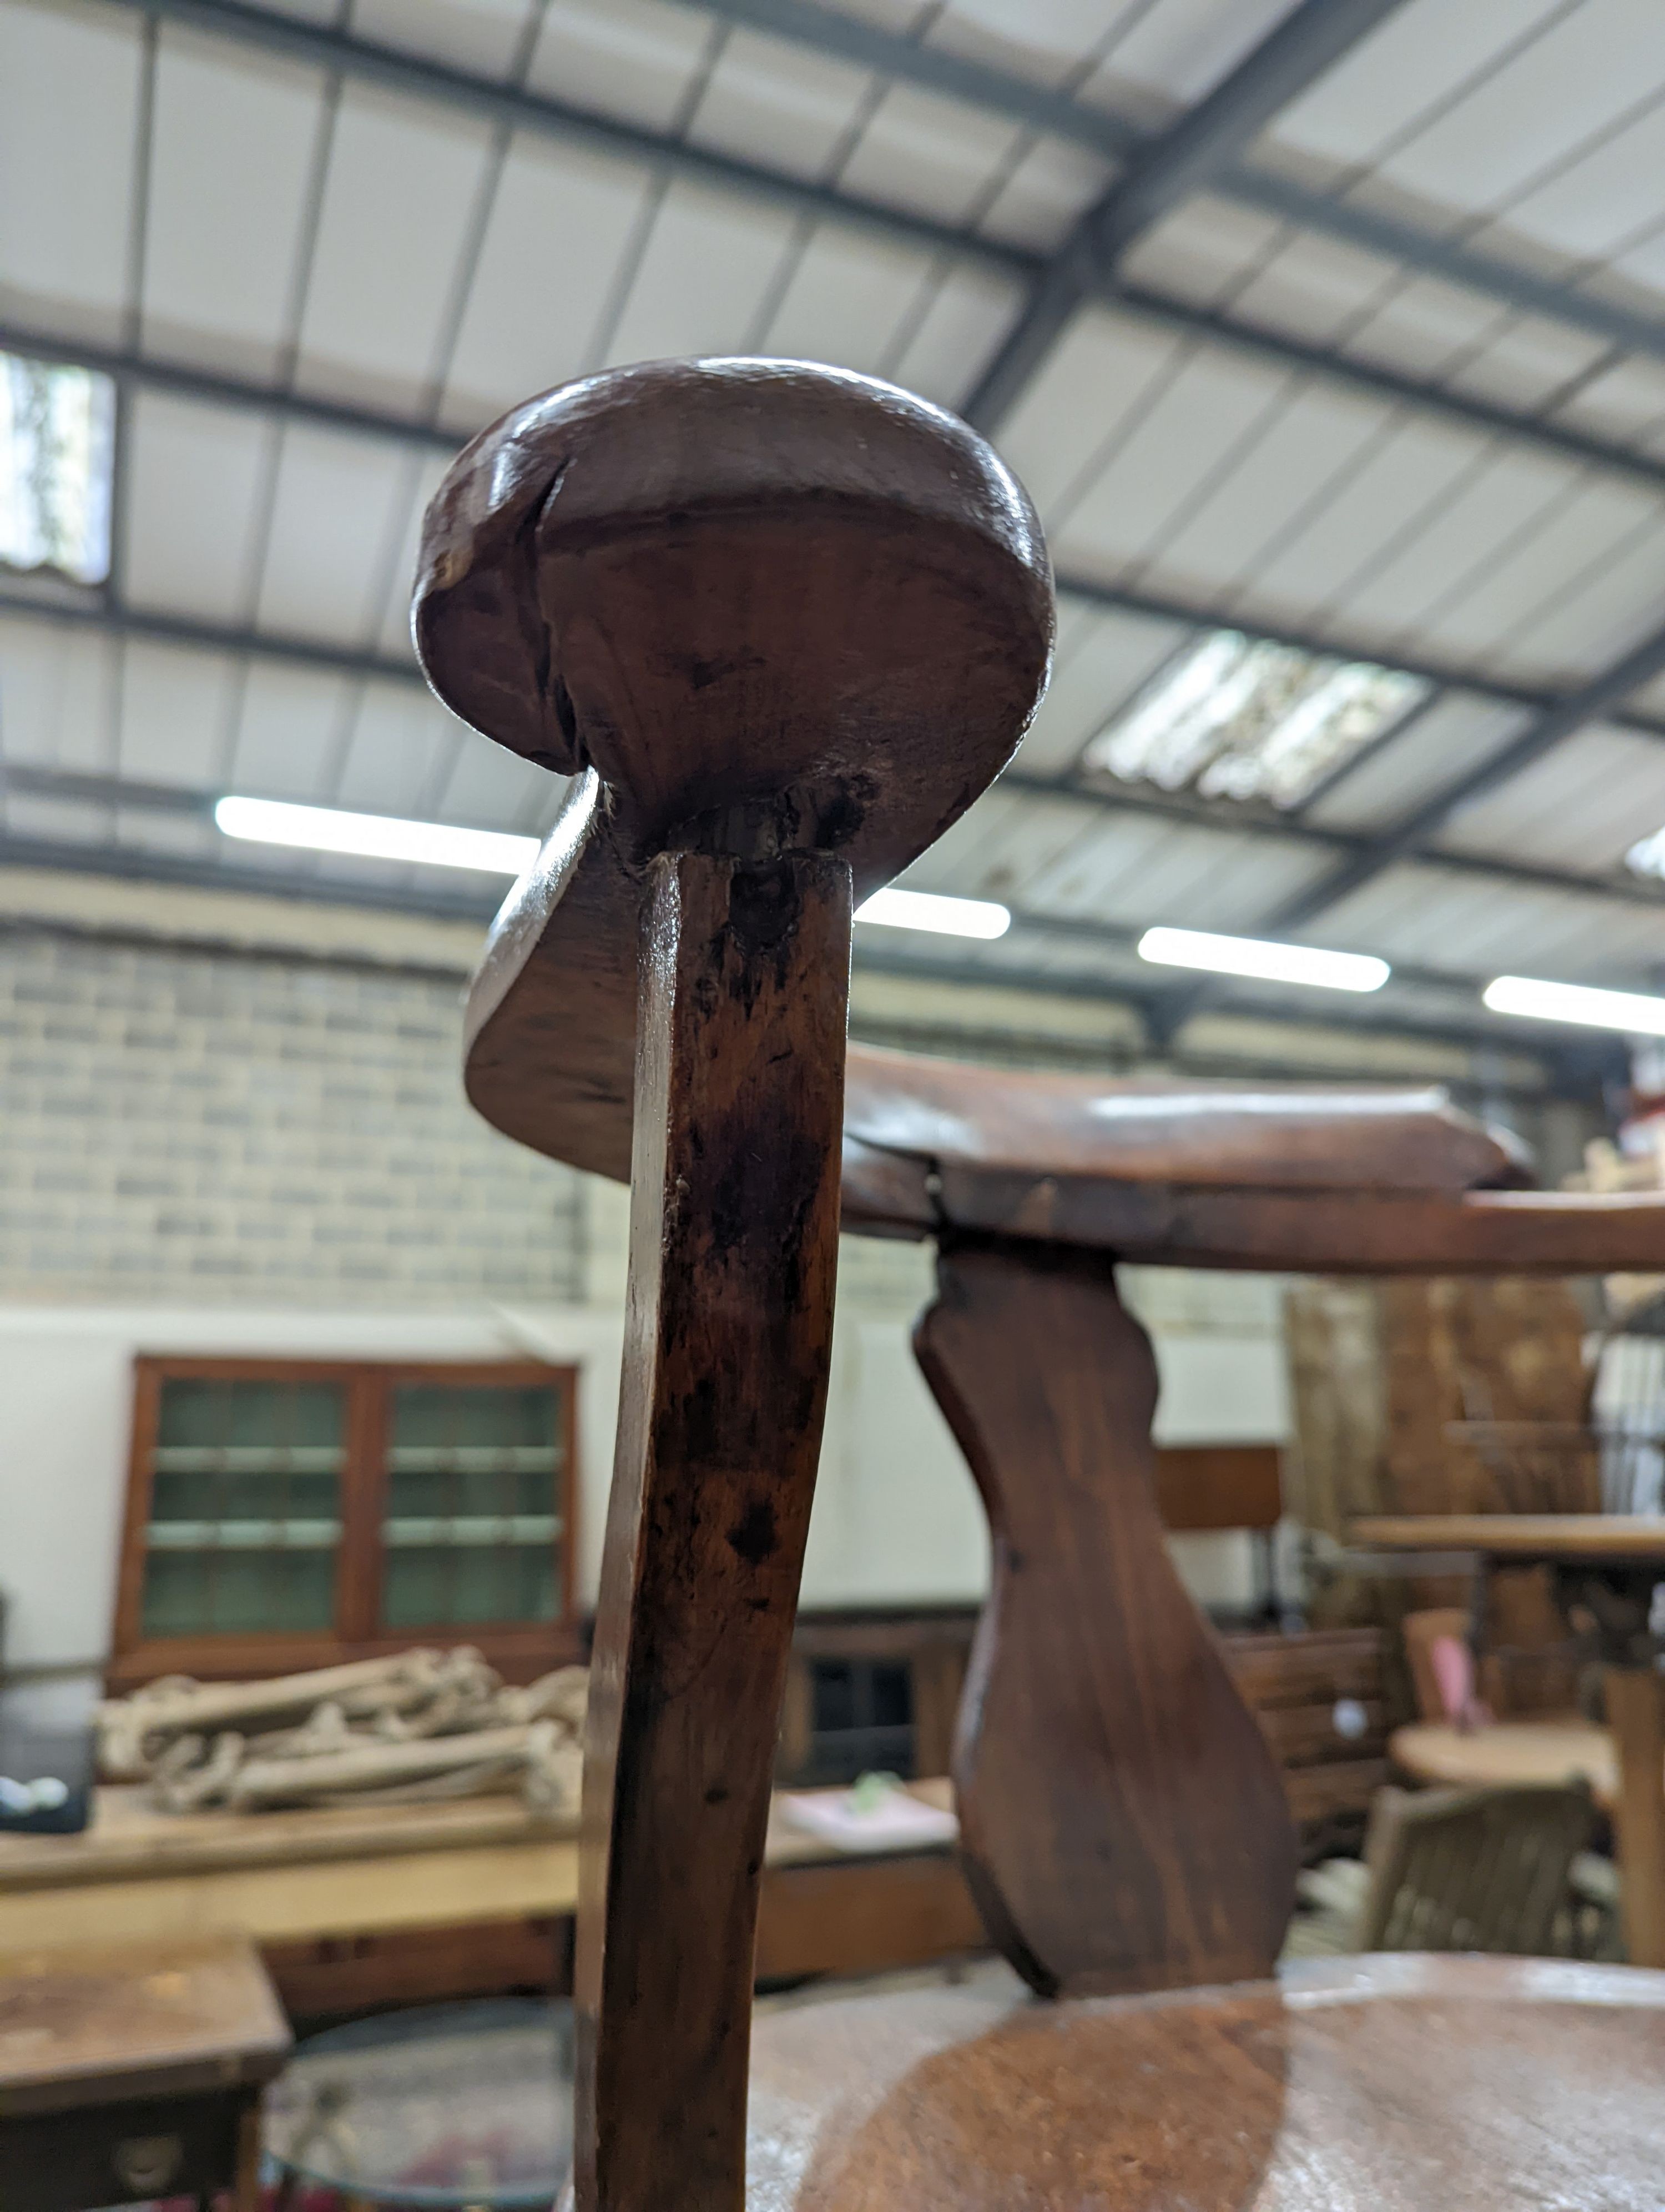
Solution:
<svg viewBox="0 0 1665 2212">
<path fill-rule="evenodd" d="M 398 1383 L 383 1628 L 557 1619 L 564 1467 L 559 1385 Z"/>
</svg>

